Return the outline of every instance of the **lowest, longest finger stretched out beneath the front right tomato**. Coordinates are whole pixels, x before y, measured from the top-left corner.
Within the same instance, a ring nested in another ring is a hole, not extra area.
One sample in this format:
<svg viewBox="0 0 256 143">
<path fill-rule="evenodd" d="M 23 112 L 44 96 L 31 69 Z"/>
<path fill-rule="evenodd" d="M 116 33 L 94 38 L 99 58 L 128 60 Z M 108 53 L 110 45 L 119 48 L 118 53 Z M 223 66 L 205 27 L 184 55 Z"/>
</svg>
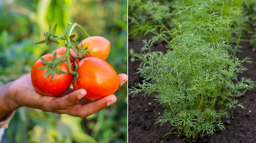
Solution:
<svg viewBox="0 0 256 143">
<path fill-rule="evenodd" d="M 109 105 L 115 103 L 117 97 L 113 94 L 108 95 L 100 100 L 87 103 L 87 104 L 74 104 L 66 110 L 59 110 L 55 113 L 64 113 L 75 117 L 86 118 L 92 114 L 99 112 L 100 110 L 105 109 Z"/>
</svg>

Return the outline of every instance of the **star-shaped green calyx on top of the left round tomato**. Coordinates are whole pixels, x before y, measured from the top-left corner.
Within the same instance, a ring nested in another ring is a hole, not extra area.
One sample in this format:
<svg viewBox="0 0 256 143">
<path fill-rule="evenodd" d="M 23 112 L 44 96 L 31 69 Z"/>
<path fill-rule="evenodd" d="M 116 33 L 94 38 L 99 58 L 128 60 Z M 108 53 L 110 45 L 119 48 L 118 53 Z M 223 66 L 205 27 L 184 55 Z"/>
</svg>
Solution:
<svg viewBox="0 0 256 143">
<path fill-rule="evenodd" d="M 51 62 L 49 62 L 48 60 L 46 60 L 45 58 L 43 57 L 39 57 L 42 61 L 43 61 L 43 67 L 40 67 L 38 68 L 37 70 L 47 70 L 46 73 L 44 74 L 44 78 L 49 76 L 51 74 L 51 79 L 53 81 L 54 79 L 54 73 L 58 73 L 58 74 L 65 74 L 67 73 L 66 71 L 61 71 L 58 69 L 58 66 L 65 63 L 67 60 L 64 59 L 64 60 L 61 60 L 59 62 L 57 62 L 55 65 L 54 65 L 54 62 L 56 60 L 56 57 L 57 57 L 57 53 L 55 52 L 53 54 L 53 59 Z"/>
</svg>

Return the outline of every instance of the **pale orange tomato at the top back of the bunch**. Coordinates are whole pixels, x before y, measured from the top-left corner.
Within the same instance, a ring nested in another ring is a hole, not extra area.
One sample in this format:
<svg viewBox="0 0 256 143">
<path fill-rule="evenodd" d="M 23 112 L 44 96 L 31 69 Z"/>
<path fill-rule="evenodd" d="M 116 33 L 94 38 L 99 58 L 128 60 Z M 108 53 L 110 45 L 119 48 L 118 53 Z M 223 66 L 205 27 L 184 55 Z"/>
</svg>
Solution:
<svg viewBox="0 0 256 143">
<path fill-rule="evenodd" d="M 105 60 L 110 51 L 110 42 L 104 37 L 92 36 L 82 40 L 83 47 L 88 47 L 87 51 L 90 51 L 92 56 L 98 57 Z M 79 43 L 78 48 L 81 49 L 81 43 Z M 86 54 L 86 56 L 91 56 Z"/>
</svg>

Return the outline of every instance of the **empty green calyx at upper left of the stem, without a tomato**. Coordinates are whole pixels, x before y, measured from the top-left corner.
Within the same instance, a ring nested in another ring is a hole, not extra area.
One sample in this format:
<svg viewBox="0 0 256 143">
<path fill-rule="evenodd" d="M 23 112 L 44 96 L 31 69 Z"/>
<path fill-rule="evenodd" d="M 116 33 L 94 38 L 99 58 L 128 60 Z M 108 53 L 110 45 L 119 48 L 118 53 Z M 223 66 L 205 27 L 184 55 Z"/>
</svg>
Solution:
<svg viewBox="0 0 256 143">
<path fill-rule="evenodd" d="M 65 40 L 65 38 L 64 38 L 64 36 L 55 35 L 56 29 L 57 29 L 57 23 L 55 24 L 53 29 L 52 29 L 52 23 L 50 23 L 49 24 L 49 32 L 44 33 L 45 39 L 41 40 L 39 42 L 36 42 L 34 44 L 43 44 L 43 43 L 46 43 L 46 44 L 50 44 L 50 43 L 60 44 L 58 42 L 58 40 L 60 40 L 60 39 Z"/>
</svg>

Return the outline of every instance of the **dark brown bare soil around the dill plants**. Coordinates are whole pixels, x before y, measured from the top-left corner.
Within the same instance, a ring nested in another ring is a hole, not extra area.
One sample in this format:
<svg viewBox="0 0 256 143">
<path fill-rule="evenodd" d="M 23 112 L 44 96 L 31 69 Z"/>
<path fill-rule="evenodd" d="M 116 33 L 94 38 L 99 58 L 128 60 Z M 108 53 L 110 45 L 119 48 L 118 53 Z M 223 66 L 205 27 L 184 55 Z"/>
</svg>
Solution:
<svg viewBox="0 0 256 143">
<path fill-rule="evenodd" d="M 148 38 L 148 37 L 146 37 Z M 159 41 L 151 49 L 164 52 L 166 43 Z M 249 43 L 241 43 L 242 53 L 237 53 L 240 59 L 251 57 L 251 64 L 245 63 L 247 71 L 240 77 L 250 78 L 256 81 L 256 53 Z M 133 48 L 136 53 L 141 53 L 141 40 L 128 40 L 128 49 Z M 128 59 L 128 88 L 140 83 L 142 78 L 134 74 L 140 62 L 131 62 Z M 193 141 L 195 143 L 255 143 L 256 142 L 256 89 L 247 91 L 243 96 L 237 98 L 246 109 L 236 108 L 229 110 L 231 118 L 223 119 L 225 130 L 216 130 L 216 135 L 205 135 Z M 155 124 L 155 119 L 164 111 L 152 96 L 143 97 L 142 93 L 128 96 L 128 142 L 129 143 L 186 143 L 180 135 L 166 135 L 172 126 L 169 123 Z"/>
</svg>

